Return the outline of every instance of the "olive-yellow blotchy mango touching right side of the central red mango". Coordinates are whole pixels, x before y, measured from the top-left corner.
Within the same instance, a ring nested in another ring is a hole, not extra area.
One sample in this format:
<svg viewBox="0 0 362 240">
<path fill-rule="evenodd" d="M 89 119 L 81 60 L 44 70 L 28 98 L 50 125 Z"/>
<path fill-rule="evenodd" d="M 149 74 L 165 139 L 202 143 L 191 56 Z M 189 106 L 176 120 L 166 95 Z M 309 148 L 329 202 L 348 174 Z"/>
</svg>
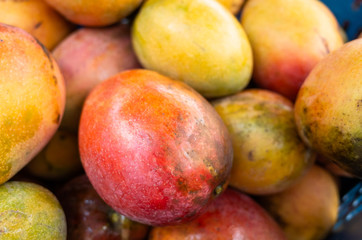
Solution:
<svg viewBox="0 0 362 240">
<path fill-rule="evenodd" d="M 233 141 L 231 186 L 250 194 L 280 192 L 314 162 L 298 136 L 293 105 L 281 95 L 249 89 L 212 104 Z"/>
</svg>

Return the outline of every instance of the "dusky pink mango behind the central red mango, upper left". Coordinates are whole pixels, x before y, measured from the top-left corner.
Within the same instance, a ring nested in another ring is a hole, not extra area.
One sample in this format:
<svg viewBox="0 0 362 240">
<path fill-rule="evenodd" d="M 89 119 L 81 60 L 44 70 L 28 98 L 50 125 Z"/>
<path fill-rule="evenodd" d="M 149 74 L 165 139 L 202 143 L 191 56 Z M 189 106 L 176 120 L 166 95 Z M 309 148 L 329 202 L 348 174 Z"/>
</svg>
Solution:
<svg viewBox="0 0 362 240">
<path fill-rule="evenodd" d="M 130 35 L 130 27 L 125 24 L 82 28 L 54 49 L 66 84 L 62 128 L 77 132 L 84 100 L 96 85 L 123 70 L 141 67 Z"/>
</svg>

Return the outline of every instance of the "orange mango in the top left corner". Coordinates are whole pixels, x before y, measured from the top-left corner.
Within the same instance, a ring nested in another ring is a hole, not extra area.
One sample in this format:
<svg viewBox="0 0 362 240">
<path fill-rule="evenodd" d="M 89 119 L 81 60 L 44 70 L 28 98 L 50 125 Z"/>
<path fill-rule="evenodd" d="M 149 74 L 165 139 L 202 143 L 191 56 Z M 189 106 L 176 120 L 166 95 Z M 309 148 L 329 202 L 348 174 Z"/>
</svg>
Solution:
<svg viewBox="0 0 362 240">
<path fill-rule="evenodd" d="M 0 22 L 24 29 L 49 50 L 73 30 L 71 23 L 42 0 L 0 1 Z"/>
</svg>

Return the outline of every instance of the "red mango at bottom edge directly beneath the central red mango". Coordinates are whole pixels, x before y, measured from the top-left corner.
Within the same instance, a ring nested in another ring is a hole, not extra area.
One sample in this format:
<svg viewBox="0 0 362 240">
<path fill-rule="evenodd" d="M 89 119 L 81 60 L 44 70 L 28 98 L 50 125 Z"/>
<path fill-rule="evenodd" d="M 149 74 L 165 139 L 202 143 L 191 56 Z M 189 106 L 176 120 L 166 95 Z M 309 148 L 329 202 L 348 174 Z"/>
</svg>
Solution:
<svg viewBox="0 0 362 240">
<path fill-rule="evenodd" d="M 271 216 L 246 194 L 228 188 L 197 219 L 155 227 L 149 240 L 286 240 Z"/>
</svg>

